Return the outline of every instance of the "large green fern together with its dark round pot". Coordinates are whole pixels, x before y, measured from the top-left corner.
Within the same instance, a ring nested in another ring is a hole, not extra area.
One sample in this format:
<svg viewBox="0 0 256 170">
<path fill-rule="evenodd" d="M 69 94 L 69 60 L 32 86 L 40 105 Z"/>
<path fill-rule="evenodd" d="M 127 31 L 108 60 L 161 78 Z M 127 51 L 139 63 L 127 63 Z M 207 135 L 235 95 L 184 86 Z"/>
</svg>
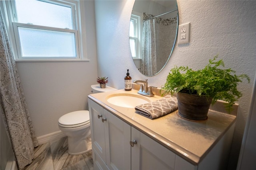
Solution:
<svg viewBox="0 0 256 170">
<path fill-rule="evenodd" d="M 226 110 L 232 111 L 232 105 L 242 96 L 237 85 L 246 78 L 246 74 L 236 75 L 231 68 L 222 69 L 224 62 L 209 60 L 209 64 L 202 70 L 192 70 L 191 68 L 175 66 L 168 74 L 166 83 L 162 86 L 162 95 L 177 93 L 178 114 L 181 117 L 191 120 L 207 119 L 210 104 L 217 100 L 226 102 Z"/>
</svg>

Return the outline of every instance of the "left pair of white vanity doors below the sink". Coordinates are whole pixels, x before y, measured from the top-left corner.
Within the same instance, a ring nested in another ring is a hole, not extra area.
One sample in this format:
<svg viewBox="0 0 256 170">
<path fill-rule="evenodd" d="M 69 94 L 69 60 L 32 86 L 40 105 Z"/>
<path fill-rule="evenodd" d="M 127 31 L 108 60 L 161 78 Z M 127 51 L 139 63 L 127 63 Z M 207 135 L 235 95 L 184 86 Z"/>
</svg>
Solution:
<svg viewBox="0 0 256 170">
<path fill-rule="evenodd" d="M 88 100 L 94 169 L 131 169 L 131 126 Z"/>
</svg>

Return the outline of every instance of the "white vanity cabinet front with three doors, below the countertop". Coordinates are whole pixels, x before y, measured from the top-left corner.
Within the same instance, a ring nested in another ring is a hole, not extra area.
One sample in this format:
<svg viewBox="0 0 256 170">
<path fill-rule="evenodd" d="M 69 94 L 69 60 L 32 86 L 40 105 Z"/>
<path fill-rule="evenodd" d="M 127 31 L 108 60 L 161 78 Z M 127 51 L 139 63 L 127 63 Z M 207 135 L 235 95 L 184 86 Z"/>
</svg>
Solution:
<svg viewBox="0 0 256 170">
<path fill-rule="evenodd" d="M 176 154 L 92 100 L 88 102 L 94 169 L 174 169 Z"/>
</svg>

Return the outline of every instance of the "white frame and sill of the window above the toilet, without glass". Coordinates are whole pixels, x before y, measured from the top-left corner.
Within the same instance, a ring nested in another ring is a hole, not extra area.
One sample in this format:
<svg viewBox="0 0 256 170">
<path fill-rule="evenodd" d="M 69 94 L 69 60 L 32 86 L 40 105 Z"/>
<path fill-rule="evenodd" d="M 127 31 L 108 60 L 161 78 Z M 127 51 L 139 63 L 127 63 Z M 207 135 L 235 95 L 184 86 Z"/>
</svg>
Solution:
<svg viewBox="0 0 256 170">
<path fill-rule="evenodd" d="M 47 27 L 40 25 L 32 25 L 26 23 L 17 23 L 15 17 L 16 11 L 12 10 L 13 1 L 4 1 L 5 13 L 7 14 L 8 30 L 13 47 L 15 61 L 89 61 L 86 53 L 86 36 L 82 34 L 82 27 L 85 31 L 85 17 L 80 14 L 84 14 L 84 1 L 79 0 L 42 0 L 44 2 L 50 2 L 52 4 L 58 4 L 62 6 L 68 6 L 72 8 L 72 21 L 73 29 L 62 29 L 56 27 Z M 82 8 L 81 8 L 82 6 Z M 13 8 L 15 9 L 15 8 Z M 33 29 L 45 29 L 50 31 L 70 32 L 75 34 L 76 45 L 76 58 L 72 57 L 22 57 L 20 38 L 18 36 L 18 27 L 26 27 Z"/>
</svg>

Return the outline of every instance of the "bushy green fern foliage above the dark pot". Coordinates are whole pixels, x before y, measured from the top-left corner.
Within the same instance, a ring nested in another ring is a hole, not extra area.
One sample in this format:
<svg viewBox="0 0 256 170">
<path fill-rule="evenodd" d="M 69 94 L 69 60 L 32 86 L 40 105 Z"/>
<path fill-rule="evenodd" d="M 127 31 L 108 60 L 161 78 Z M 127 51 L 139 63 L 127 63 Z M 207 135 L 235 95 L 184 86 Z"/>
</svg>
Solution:
<svg viewBox="0 0 256 170">
<path fill-rule="evenodd" d="M 231 68 L 222 69 L 224 62 L 217 61 L 218 55 L 209 60 L 209 63 L 202 70 L 192 70 L 187 66 L 175 66 L 168 74 L 166 83 L 162 86 L 160 93 L 174 94 L 183 92 L 187 94 L 205 95 L 212 98 L 212 104 L 217 100 L 227 102 L 227 111 L 237 101 L 242 93 L 238 91 L 237 86 L 242 79 L 250 78 L 246 74 L 236 75 Z"/>
</svg>

